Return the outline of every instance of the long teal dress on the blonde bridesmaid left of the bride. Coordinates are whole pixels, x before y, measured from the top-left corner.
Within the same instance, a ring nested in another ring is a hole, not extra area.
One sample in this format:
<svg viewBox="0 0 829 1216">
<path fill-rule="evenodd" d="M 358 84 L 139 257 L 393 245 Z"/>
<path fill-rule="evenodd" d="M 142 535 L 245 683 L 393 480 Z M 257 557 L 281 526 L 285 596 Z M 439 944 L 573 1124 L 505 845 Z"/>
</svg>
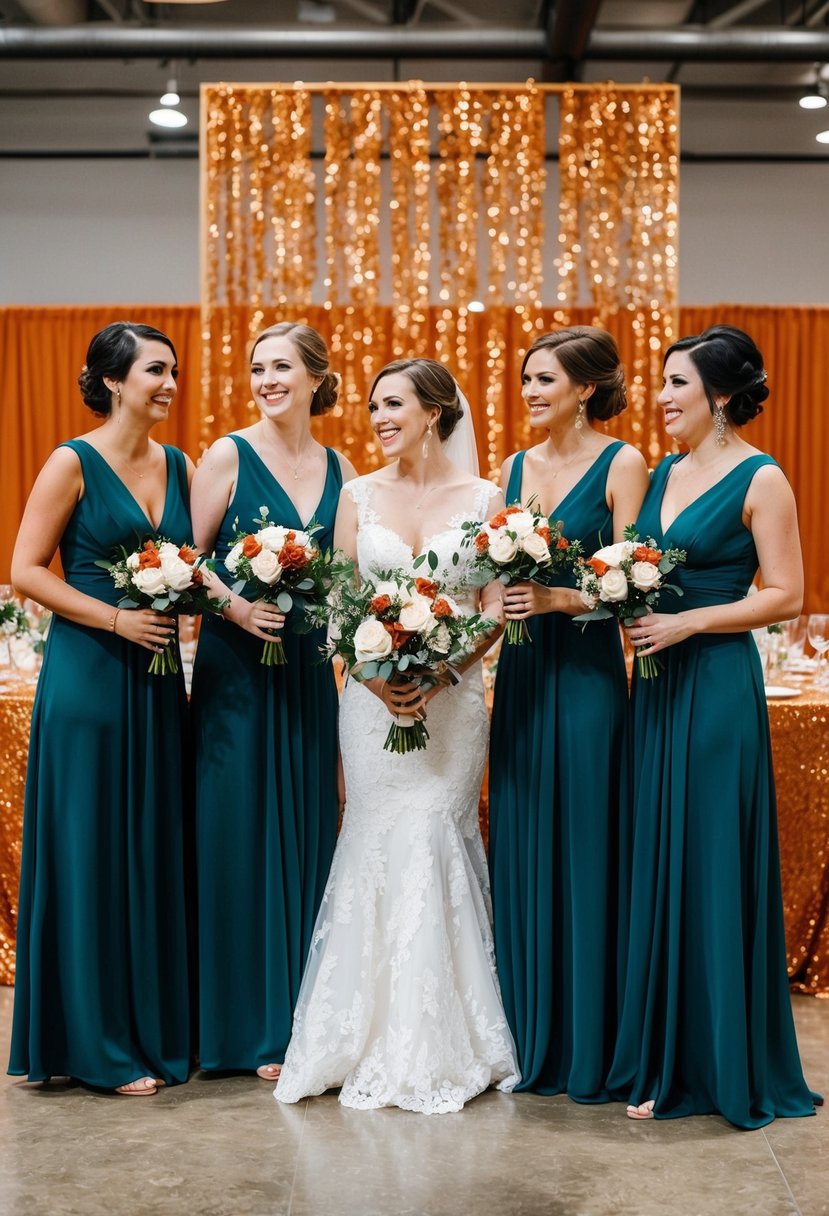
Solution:
<svg viewBox="0 0 829 1216">
<path fill-rule="evenodd" d="M 216 537 L 224 562 L 238 528 L 301 528 L 297 508 L 239 435 L 236 492 Z M 337 454 L 314 518 L 333 545 L 342 486 Z M 308 522 L 308 520 L 306 520 Z M 222 565 L 218 573 L 229 580 Z M 337 837 L 337 687 L 321 663 L 325 632 L 282 631 L 287 664 L 264 642 L 205 618 L 196 653 L 196 850 L 199 1060 L 205 1070 L 280 1064 Z"/>
</svg>

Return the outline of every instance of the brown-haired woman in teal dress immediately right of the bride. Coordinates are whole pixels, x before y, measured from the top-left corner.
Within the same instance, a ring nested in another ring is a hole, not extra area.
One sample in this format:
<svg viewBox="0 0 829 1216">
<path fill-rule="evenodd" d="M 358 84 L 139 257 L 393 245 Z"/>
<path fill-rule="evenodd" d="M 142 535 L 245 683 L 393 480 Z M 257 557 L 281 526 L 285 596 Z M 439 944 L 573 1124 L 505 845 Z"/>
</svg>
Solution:
<svg viewBox="0 0 829 1216">
<path fill-rule="evenodd" d="M 621 540 L 648 472 L 594 428 L 626 406 L 614 339 L 575 326 L 521 366 L 530 426 L 547 438 L 503 466 L 508 503 L 535 497 L 587 554 Z M 574 580 L 507 589 L 532 644 L 501 649 L 490 747 L 495 946 L 519 1090 L 607 1100 L 617 1014 L 619 817 L 627 680 L 619 629 L 585 612 Z"/>
</svg>

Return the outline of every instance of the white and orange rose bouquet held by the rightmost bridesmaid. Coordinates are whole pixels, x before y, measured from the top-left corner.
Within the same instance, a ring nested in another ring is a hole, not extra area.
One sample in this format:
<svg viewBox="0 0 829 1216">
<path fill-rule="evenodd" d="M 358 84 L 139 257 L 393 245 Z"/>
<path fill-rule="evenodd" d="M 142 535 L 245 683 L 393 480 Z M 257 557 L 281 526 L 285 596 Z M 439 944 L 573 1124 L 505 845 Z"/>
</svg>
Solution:
<svg viewBox="0 0 829 1216">
<path fill-rule="evenodd" d="M 642 541 L 635 527 L 626 528 L 625 540 L 579 561 L 579 590 L 590 612 L 574 617 L 574 621 L 586 625 L 615 617 L 622 625 L 632 625 L 654 609 L 664 591 L 683 593 L 682 587 L 664 580 L 684 559 L 683 548 L 659 548 L 653 536 Z M 638 664 L 644 680 L 659 675 L 661 669 L 653 655 L 638 655 Z"/>
</svg>

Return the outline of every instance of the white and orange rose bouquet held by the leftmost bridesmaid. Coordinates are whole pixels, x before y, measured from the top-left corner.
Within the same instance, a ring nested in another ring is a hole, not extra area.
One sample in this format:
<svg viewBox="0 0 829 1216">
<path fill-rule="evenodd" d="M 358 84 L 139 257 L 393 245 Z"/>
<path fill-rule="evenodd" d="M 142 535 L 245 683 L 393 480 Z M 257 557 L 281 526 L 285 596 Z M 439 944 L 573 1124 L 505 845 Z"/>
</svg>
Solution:
<svg viewBox="0 0 829 1216">
<path fill-rule="evenodd" d="M 122 546 L 120 554 L 114 562 L 95 563 L 107 570 L 115 587 L 124 592 L 118 608 L 152 608 L 170 615 L 201 617 L 221 612 L 227 603 L 208 591 L 202 569 L 213 569 L 213 563 L 204 554 L 199 556 L 192 545 L 162 537 L 145 541 L 131 553 Z M 153 655 L 150 672 L 158 676 L 177 670 L 173 642 L 168 642 Z"/>
</svg>

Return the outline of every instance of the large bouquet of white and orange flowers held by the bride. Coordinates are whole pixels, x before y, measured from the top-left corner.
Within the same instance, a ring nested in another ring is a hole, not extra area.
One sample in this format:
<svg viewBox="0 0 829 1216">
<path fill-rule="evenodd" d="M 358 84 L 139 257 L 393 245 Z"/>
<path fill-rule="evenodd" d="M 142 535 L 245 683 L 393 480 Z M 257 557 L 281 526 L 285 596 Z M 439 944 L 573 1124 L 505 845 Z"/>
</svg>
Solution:
<svg viewBox="0 0 829 1216">
<path fill-rule="evenodd" d="M 457 664 L 494 627 L 480 614 L 463 613 L 432 579 L 394 570 L 357 585 L 349 563 L 338 568 L 329 602 L 327 653 L 340 654 L 355 680 L 379 676 L 425 691 L 457 683 Z M 425 748 L 428 738 L 424 722 L 397 714 L 383 747 L 400 755 Z"/>
</svg>

